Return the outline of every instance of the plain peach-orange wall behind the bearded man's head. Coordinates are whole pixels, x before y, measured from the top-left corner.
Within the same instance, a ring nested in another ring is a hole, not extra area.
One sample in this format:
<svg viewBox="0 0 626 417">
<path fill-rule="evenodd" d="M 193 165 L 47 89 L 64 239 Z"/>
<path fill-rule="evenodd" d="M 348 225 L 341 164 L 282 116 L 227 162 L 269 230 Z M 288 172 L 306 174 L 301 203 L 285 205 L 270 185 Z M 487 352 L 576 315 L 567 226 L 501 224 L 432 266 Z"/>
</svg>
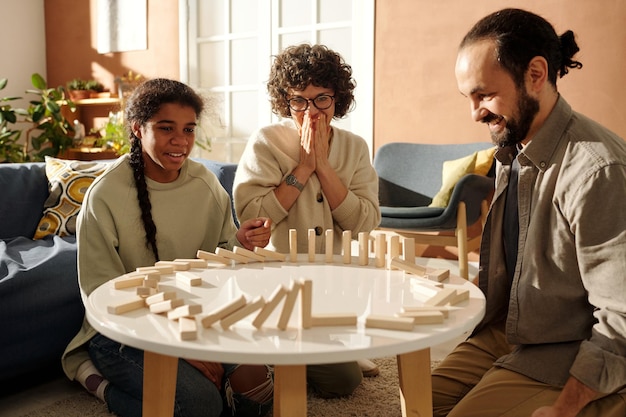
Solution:
<svg viewBox="0 0 626 417">
<path fill-rule="evenodd" d="M 572 107 L 626 138 L 626 2 L 622 0 L 379 0 L 374 145 L 489 141 L 454 77 L 457 46 L 481 17 L 520 7 L 571 29 L 581 70 L 557 81 Z"/>
</svg>

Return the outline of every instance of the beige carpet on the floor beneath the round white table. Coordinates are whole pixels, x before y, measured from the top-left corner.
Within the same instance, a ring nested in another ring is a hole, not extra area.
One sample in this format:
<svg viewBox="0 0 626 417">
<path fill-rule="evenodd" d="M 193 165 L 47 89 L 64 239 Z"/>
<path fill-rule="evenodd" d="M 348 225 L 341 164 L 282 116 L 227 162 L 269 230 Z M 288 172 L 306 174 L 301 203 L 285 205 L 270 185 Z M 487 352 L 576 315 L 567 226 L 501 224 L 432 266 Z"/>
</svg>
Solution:
<svg viewBox="0 0 626 417">
<path fill-rule="evenodd" d="M 308 396 L 309 417 L 395 417 L 401 416 L 398 371 L 395 357 L 373 359 L 380 375 L 364 378 L 348 398 L 324 400 Z M 433 364 L 434 365 L 434 364 Z M 20 417 L 115 417 L 106 406 L 86 392 L 58 401 Z"/>
</svg>

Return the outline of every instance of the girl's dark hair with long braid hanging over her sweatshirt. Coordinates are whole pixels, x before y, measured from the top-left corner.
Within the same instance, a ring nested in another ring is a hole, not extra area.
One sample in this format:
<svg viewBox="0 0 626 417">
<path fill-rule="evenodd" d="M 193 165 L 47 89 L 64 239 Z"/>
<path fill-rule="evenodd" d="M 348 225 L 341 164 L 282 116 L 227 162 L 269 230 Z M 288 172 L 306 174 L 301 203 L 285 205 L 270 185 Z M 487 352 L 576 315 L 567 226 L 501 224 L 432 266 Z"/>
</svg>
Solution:
<svg viewBox="0 0 626 417">
<path fill-rule="evenodd" d="M 189 106 L 194 109 L 197 118 L 200 118 L 204 111 L 204 100 L 191 87 L 166 78 L 156 78 L 140 84 L 133 90 L 124 109 L 124 120 L 131 143 L 130 166 L 133 168 L 141 221 L 146 233 L 146 245 L 152 250 L 155 261 L 159 261 L 159 249 L 156 244 L 157 228 L 152 219 L 152 204 L 144 172 L 143 148 L 141 140 L 133 133 L 132 126 L 134 123 L 141 126 L 146 124 L 166 103 Z"/>
</svg>

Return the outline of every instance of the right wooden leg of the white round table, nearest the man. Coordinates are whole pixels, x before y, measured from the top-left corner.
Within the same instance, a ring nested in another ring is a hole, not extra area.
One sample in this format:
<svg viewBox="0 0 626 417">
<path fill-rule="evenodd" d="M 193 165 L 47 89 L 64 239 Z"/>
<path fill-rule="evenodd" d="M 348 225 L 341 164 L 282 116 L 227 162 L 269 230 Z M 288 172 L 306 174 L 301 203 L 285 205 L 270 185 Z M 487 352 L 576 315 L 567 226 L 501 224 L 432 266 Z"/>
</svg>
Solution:
<svg viewBox="0 0 626 417">
<path fill-rule="evenodd" d="M 430 349 L 398 355 L 400 402 L 403 417 L 432 417 Z"/>
</svg>

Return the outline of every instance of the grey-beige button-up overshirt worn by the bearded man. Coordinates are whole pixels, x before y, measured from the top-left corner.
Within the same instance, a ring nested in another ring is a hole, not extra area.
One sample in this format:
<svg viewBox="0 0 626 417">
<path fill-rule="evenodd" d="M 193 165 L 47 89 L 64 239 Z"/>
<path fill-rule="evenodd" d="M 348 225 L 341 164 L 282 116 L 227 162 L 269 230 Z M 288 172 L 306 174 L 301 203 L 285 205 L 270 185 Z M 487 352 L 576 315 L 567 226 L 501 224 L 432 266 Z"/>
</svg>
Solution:
<svg viewBox="0 0 626 417">
<path fill-rule="evenodd" d="M 626 386 L 626 142 L 563 98 L 520 152 L 519 250 L 513 282 L 502 219 L 510 171 L 496 153 L 479 284 L 483 323 L 503 323 L 496 364 L 562 386 L 570 375 L 611 393 Z"/>
</svg>

